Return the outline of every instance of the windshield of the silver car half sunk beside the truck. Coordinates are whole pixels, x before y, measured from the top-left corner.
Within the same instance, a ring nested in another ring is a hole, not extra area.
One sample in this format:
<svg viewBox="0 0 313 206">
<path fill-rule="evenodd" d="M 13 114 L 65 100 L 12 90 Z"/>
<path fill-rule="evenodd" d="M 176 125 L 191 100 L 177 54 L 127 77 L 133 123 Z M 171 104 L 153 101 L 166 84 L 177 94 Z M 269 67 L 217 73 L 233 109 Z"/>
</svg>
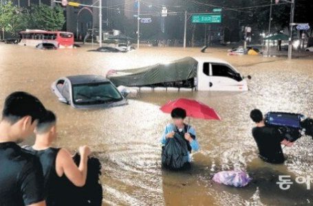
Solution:
<svg viewBox="0 0 313 206">
<path fill-rule="evenodd" d="M 122 95 L 111 82 L 74 84 L 74 104 L 105 104 L 122 100 Z"/>
</svg>

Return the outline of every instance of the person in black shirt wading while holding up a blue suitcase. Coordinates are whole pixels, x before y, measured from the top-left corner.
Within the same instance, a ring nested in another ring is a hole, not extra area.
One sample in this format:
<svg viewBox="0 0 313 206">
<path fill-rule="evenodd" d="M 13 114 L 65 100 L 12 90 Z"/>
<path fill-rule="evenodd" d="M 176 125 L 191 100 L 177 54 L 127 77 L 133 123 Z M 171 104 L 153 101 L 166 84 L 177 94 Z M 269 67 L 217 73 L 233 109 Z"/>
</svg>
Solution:
<svg viewBox="0 0 313 206">
<path fill-rule="evenodd" d="M 255 128 L 252 128 L 252 136 L 259 148 L 259 157 L 268 163 L 283 163 L 285 157 L 281 144 L 292 146 L 292 143 L 284 139 L 277 128 L 266 126 L 263 114 L 259 109 L 252 110 L 250 117 L 257 124 Z"/>
</svg>

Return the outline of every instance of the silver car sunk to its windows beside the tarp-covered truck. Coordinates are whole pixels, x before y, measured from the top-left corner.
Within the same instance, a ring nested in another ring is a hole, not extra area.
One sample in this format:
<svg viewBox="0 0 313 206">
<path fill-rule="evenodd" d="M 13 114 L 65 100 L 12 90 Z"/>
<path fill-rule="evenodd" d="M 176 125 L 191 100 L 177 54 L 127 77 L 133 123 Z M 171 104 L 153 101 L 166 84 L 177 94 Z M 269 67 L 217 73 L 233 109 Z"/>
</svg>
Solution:
<svg viewBox="0 0 313 206">
<path fill-rule="evenodd" d="M 102 76 L 59 78 L 52 83 L 51 89 L 60 102 L 74 108 L 108 108 L 127 104 L 127 100 L 114 84 Z"/>
</svg>

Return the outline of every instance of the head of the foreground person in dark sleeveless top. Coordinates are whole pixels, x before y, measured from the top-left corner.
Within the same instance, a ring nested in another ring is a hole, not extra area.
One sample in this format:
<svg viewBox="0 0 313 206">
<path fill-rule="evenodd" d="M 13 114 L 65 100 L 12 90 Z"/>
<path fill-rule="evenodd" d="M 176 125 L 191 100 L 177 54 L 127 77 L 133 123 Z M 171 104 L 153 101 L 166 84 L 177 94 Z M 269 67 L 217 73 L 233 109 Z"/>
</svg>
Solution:
<svg viewBox="0 0 313 206">
<path fill-rule="evenodd" d="M 49 140 L 53 141 L 56 137 L 56 115 L 52 111 L 47 111 L 35 129 L 36 135 L 49 135 Z"/>
</svg>

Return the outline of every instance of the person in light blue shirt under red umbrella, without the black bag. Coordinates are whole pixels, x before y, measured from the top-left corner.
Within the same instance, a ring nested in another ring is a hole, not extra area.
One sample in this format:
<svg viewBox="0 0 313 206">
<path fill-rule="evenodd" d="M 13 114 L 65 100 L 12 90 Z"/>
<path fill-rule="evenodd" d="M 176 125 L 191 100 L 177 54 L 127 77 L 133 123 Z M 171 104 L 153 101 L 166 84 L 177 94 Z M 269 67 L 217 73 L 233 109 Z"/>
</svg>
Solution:
<svg viewBox="0 0 313 206">
<path fill-rule="evenodd" d="M 183 108 L 174 108 L 171 111 L 171 117 L 173 118 L 173 123 L 168 124 L 164 130 L 162 135 L 161 143 L 163 145 L 166 144 L 166 141 L 173 138 L 175 133 L 181 133 L 184 137 L 184 140 L 187 143 L 188 147 L 188 159 L 187 161 L 191 161 L 190 153 L 191 151 L 199 150 L 199 144 L 196 139 L 195 129 L 188 124 L 184 123 L 184 119 L 186 118 L 186 111 Z"/>
</svg>

